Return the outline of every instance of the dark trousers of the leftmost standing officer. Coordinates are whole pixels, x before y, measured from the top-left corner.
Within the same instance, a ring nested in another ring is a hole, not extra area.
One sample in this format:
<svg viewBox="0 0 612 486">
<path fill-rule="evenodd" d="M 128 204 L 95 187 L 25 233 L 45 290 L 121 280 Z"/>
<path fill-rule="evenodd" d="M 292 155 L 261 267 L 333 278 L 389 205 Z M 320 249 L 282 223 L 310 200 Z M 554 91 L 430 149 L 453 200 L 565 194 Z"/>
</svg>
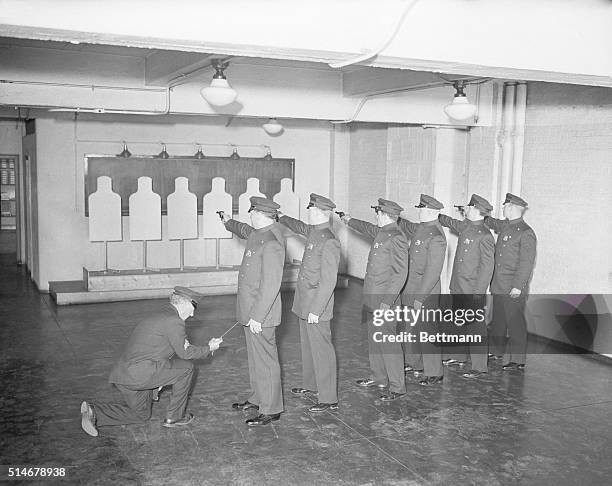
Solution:
<svg viewBox="0 0 612 486">
<path fill-rule="evenodd" d="M 249 362 L 251 396 L 248 401 L 259 406 L 259 412 L 273 415 L 283 411 L 280 364 L 276 348 L 276 328 L 262 327 L 259 334 L 244 328 Z"/>
</svg>

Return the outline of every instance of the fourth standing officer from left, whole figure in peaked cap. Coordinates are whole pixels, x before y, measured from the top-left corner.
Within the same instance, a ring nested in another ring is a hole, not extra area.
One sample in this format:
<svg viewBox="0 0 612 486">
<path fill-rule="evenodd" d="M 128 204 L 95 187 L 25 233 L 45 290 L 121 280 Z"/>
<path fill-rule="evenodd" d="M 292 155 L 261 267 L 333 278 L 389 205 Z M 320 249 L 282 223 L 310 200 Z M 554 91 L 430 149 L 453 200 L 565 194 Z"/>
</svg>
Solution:
<svg viewBox="0 0 612 486">
<path fill-rule="evenodd" d="M 411 240 L 410 271 L 408 281 L 402 292 L 402 304 L 415 310 L 437 309 L 440 306 L 440 274 L 446 257 L 446 236 L 438 221 L 440 209 L 444 205 L 432 196 L 421 194 L 419 223 L 400 219 L 399 227 Z M 442 354 L 435 343 L 419 342 L 419 332 L 435 334 L 437 325 L 432 321 L 419 319 L 413 329 L 417 339 L 409 343 L 405 371 L 415 374 L 424 372 L 421 385 L 434 385 L 442 381 Z"/>
</svg>

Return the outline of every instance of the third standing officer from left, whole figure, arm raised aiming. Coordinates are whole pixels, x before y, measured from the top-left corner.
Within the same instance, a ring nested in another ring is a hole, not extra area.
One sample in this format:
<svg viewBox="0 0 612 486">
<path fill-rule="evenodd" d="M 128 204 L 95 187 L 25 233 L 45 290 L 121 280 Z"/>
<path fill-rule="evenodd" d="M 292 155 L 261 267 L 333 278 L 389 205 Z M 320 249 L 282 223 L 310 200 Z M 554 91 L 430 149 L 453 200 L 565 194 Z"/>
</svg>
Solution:
<svg viewBox="0 0 612 486">
<path fill-rule="evenodd" d="M 384 312 L 399 304 L 408 274 L 408 240 L 397 226 L 397 218 L 403 210 L 399 204 L 381 198 L 372 209 L 376 213 L 376 224 L 348 215 L 342 218 L 350 228 L 373 240 L 363 282 L 371 376 L 357 380 L 357 385 L 379 388 L 388 385 L 388 392 L 380 398 L 391 401 L 406 393 L 404 353 L 399 342 L 380 342 L 385 336 L 397 334 L 397 322 L 384 321 L 381 326 L 375 325 L 374 312 Z"/>
</svg>

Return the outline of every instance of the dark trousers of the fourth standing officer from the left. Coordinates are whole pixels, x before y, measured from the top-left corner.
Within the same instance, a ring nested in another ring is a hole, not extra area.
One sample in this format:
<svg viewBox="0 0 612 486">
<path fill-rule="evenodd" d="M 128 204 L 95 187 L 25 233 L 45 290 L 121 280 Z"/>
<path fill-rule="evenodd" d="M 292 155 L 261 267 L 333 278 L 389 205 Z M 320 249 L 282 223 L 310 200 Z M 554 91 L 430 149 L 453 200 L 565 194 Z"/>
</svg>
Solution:
<svg viewBox="0 0 612 486">
<path fill-rule="evenodd" d="M 440 296 L 432 294 L 423 302 L 422 312 L 427 309 L 438 309 L 440 307 Z M 406 331 L 415 335 L 414 342 L 407 343 L 406 364 L 415 370 L 423 370 L 426 377 L 442 376 L 442 348 L 436 343 L 429 341 L 420 342 L 420 333 L 426 331 L 428 334 L 435 334 L 438 330 L 438 323 L 435 320 L 424 320 L 419 318 L 414 326 L 406 326 Z"/>
</svg>

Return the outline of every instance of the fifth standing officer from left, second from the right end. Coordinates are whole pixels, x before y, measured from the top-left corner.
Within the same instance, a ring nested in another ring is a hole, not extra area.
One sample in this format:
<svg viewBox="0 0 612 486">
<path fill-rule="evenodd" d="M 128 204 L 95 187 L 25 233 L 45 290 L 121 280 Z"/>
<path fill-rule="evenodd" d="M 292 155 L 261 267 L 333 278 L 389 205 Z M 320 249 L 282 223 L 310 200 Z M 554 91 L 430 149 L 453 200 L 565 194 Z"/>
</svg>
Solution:
<svg viewBox="0 0 612 486">
<path fill-rule="evenodd" d="M 442 226 L 450 228 L 458 236 L 457 251 L 453 263 L 450 281 L 450 293 L 453 296 L 453 309 L 480 310 L 481 320 L 468 325 L 470 334 L 479 335 L 481 344 L 465 346 L 470 352 L 472 370 L 464 373 L 466 378 L 478 378 L 488 371 L 487 368 L 487 326 L 484 320 L 486 293 L 493 276 L 495 239 L 484 225 L 484 217 L 493 210 L 493 206 L 484 197 L 472 194 L 465 207 L 463 221 L 440 214 L 438 219 Z M 467 354 L 467 353 L 466 353 Z"/>
</svg>

